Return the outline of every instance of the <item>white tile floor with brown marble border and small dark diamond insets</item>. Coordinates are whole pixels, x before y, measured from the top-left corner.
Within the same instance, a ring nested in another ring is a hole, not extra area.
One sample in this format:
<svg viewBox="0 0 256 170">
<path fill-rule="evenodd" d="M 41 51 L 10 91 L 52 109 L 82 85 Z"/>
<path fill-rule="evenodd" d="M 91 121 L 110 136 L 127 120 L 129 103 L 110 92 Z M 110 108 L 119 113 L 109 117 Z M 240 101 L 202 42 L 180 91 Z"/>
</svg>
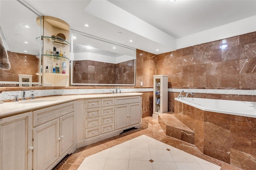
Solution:
<svg viewBox="0 0 256 170">
<path fill-rule="evenodd" d="M 192 144 L 166 136 L 152 117 L 143 118 L 141 128 L 78 148 L 54 168 L 77 169 L 239 170 L 202 154 Z"/>
</svg>

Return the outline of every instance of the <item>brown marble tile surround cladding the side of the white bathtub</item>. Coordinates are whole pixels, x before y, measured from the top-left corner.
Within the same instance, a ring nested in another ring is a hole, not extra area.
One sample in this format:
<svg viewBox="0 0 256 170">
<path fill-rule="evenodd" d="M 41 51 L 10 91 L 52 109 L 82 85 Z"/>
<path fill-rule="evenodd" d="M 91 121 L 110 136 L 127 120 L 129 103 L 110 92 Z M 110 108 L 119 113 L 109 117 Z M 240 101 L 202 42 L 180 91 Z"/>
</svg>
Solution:
<svg viewBox="0 0 256 170">
<path fill-rule="evenodd" d="M 200 114 L 199 110 L 175 101 L 174 115 L 195 132 L 195 146 L 212 158 L 244 170 L 254 169 L 256 119 L 208 111 L 201 111 Z M 194 125 L 202 128 L 194 129 Z M 200 147 L 200 144 L 203 146 Z"/>
</svg>

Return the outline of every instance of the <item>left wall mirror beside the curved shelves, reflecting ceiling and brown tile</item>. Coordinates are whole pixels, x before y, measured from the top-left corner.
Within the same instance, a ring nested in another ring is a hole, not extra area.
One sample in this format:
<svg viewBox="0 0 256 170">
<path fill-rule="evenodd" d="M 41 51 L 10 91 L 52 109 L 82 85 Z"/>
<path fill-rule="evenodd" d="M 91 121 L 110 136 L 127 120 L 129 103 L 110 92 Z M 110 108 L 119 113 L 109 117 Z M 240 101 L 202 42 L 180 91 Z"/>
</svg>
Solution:
<svg viewBox="0 0 256 170">
<path fill-rule="evenodd" d="M 0 70 L 0 87 L 41 84 L 40 16 L 23 0 L 0 1 L 0 34 L 11 64 L 10 70 Z"/>
</svg>

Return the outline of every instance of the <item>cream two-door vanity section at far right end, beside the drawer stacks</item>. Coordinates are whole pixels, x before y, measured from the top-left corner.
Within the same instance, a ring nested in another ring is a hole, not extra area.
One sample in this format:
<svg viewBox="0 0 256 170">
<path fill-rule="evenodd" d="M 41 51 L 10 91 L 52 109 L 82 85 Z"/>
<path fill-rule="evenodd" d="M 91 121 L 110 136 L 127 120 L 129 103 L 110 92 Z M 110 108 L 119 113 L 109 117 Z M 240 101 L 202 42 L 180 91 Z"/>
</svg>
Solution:
<svg viewBox="0 0 256 170">
<path fill-rule="evenodd" d="M 141 97 L 115 98 L 115 129 L 125 128 L 141 122 Z"/>
</svg>

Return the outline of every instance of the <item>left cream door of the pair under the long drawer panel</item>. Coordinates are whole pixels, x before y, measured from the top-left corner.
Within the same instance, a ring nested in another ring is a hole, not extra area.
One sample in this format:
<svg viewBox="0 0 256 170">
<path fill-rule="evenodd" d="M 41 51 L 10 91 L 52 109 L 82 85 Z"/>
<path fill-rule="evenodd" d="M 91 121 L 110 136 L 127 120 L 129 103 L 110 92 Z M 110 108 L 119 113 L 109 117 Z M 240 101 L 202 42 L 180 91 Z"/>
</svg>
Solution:
<svg viewBox="0 0 256 170">
<path fill-rule="evenodd" d="M 47 169 L 58 159 L 59 119 L 33 128 L 33 169 Z"/>
</svg>

